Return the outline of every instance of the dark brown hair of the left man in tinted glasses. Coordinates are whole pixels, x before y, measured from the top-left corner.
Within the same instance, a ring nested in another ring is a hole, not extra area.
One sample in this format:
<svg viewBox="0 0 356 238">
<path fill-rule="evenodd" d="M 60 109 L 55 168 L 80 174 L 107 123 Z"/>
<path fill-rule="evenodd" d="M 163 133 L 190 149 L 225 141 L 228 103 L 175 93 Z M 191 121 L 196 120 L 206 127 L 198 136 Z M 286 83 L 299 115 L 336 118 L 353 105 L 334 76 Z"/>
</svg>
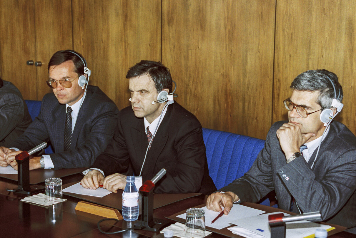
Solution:
<svg viewBox="0 0 356 238">
<path fill-rule="evenodd" d="M 66 62 L 68 60 L 72 60 L 74 63 L 74 67 L 75 67 L 75 72 L 78 75 L 83 75 L 84 74 L 84 64 L 83 64 L 83 60 L 80 59 L 78 57 L 78 55 L 74 54 L 77 53 L 78 55 L 80 55 L 80 57 L 82 57 L 82 59 L 85 61 L 85 59 L 83 58 L 83 56 L 81 54 L 79 54 L 78 52 L 75 52 L 73 50 L 67 49 L 65 51 L 57 51 L 56 53 L 54 53 L 51 57 L 51 59 L 49 60 L 48 63 L 48 72 L 49 72 L 49 67 L 53 66 L 53 65 L 59 65 L 62 64 L 63 62 Z"/>
</svg>

